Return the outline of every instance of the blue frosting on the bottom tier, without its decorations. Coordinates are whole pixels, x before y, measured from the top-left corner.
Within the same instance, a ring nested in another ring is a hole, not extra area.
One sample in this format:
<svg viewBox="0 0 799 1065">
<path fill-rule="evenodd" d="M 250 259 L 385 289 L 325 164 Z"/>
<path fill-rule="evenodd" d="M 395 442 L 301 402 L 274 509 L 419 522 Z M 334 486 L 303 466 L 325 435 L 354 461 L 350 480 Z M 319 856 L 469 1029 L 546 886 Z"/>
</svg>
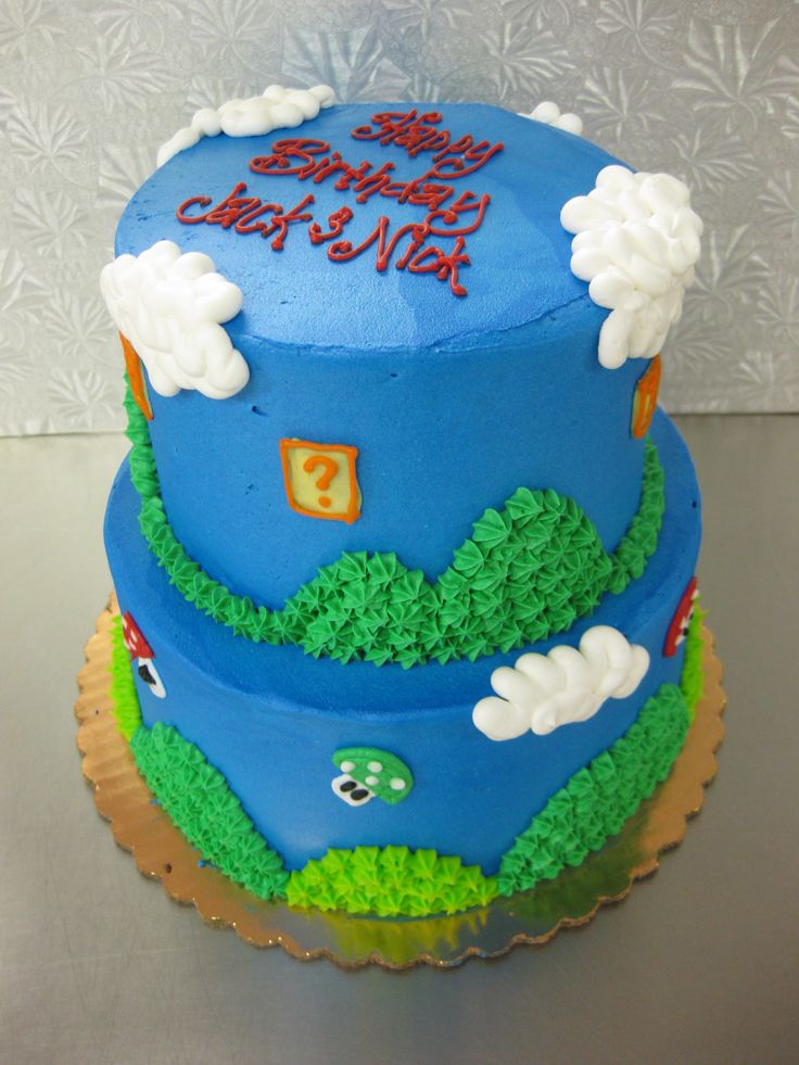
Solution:
<svg viewBox="0 0 799 1065">
<path fill-rule="evenodd" d="M 608 700 L 589 721 L 548 736 L 505 743 L 473 725 L 491 673 L 516 656 L 407 672 L 370 663 L 314 661 L 297 648 L 255 646 L 193 611 L 166 584 L 135 528 L 136 497 L 118 480 L 107 545 L 123 610 L 154 651 L 166 689 L 158 698 L 138 675 L 144 722 L 175 725 L 219 770 L 287 864 L 301 867 L 330 847 L 434 848 L 496 870 L 531 817 L 592 758 L 627 731 L 650 695 L 677 683 L 682 649 L 663 654 L 698 549 L 699 506 L 690 460 L 659 419 L 668 511 L 645 575 L 608 596 L 589 622 L 553 643 L 576 646 L 588 625 L 609 624 L 647 649 L 650 668 L 635 693 Z M 127 493 L 127 494 L 126 494 Z M 375 799 L 354 810 L 333 793 L 342 748 L 382 748 L 413 772 L 400 804 Z"/>
</svg>

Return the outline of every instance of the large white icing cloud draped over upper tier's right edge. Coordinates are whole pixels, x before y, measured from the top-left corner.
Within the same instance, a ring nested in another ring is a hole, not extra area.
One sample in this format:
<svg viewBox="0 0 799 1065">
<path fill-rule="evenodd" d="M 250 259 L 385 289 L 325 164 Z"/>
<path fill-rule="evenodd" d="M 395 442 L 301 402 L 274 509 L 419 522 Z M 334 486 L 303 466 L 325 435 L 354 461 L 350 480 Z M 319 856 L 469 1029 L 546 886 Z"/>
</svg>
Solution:
<svg viewBox="0 0 799 1065">
<path fill-rule="evenodd" d="M 606 166 L 592 192 L 563 206 L 560 223 L 576 233 L 572 274 L 611 310 L 599 333 L 601 365 L 652 358 L 682 314 L 699 258 L 702 223 L 687 187 L 668 174 Z"/>
</svg>

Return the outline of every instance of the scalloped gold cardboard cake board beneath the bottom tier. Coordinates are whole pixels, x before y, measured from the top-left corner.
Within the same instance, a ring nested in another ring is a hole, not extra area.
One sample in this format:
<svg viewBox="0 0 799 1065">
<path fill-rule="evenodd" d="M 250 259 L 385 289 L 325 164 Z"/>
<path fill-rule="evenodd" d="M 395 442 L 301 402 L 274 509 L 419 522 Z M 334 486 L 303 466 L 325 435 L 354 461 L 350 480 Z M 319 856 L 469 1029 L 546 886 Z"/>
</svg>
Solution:
<svg viewBox="0 0 799 1065">
<path fill-rule="evenodd" d="M 231 927 L 248 943 L 282 947 L 293 958 L 329 958 L 345 968 L 377 964 L 403 969 L 422 962 L 447 968 L 468 958 L 496 958 L 517 943 L 545 943 L 560 928 L 586 924 L 599 906 L 625 898 L 634 880 L 655 872 L 659 855 L 685 835 L 687 819 L 699 812 L 705 785 L 715 775 L 725 699 L 713 637 L 703 627 L 703 694 L 671 775 L 622 832 L 578 869 L 567 869 L 532 891 L 452 916 L 353 916 L 265 902 L 202 863 L 139 775 L 111 713 L 111 622 L 116 612 L 112 596 L 86 645 L 75 705 L 84 776 L 94 787 L 97 809 L 140 872 L 161 880 L 173 899 L 193 904 L 208 924 Z"/>
</svg>

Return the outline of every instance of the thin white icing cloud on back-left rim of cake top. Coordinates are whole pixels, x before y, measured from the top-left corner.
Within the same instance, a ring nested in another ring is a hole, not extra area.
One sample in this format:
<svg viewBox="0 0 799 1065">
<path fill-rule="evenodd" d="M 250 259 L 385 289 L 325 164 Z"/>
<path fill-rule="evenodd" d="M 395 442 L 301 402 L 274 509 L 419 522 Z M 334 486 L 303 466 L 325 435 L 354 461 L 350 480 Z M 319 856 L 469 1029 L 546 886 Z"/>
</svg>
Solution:
<svg viewBox="0 0 799 1065">
<path fill-rule="evenodd" d="M 313 89 L 284 89 L 270 85 L 261 97 L 248 100 L 228 100 L 218 110 L 201 107 L 190 125 L 179 129 L 158 149 L 157 165 L 163 166 L 178 152 L 192 148 L 203 137 L 257 137 L 272 129 L 300 126 L 308 118 L 316 118 L 322 107 L 329 107 L 335 94 L 329 85 Z"/>
</svg>

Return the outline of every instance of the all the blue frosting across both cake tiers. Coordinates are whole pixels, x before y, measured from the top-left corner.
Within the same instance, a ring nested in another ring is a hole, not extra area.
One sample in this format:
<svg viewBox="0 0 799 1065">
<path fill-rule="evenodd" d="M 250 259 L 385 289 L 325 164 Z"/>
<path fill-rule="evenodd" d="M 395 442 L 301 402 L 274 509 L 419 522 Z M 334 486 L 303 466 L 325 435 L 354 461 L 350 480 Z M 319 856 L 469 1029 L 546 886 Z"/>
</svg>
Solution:
<svg viewBox="0 0 799 1065">
<path fill-rule="evenodd" d="M 482 225 L 466 236 L 462 296 L 447 278 L 396 269 L 398 253 L 378 271 L 373 245 L 331 262 L 330 244 L 309 240 L 308 221 L 292 225 L 274 251 L 257 232 L 176 215 L 190 198 L 218 204 L 245 182 L 242 194 L 286 211 L 313 194 L 306 210 L 324 230 L 333 212 L 352 208 L 342 239 L 353 244 L 381 215 L 390 233 L 421 221 L 422 205 L 380 195 L 357 204 L 352 190 L 335 188 L 338 175 L 314 185 L 250 169 L 276 141 L 302 137 L 328 142 L 356 167 L 390 162 L 394 180 L 410 180 L 429 156 L 352 137 L 372 115 L 410 106 L 333 106 L 297 129 L 204 139 L 144 183 L 117 231 L 119 254 L 168 239 L 210 255 L 242 291 L 242 310 L 226 329 L 249 364 L 248 384 L 226 400 L 151 388 L 150 433 L 178 540 L 213 578 L 270 607 L 347 550 L 395 551 L 434 580 L 472 522 L 520 486 L 574 499 L 608 551 L 638 506 L 644 443 L 630 426 L 648 364 L 599 365 L 607 312 L 571 274 L 571 237 L 560 226 L 562 205 L 616 162 L 598 148 L 496 107 L 436 105 L 454 139 L 504 144 L 452 182 L 455 195 L 491 196 Z M 203 210 L 194 203 L 187 214 Z M 451 239 L 439 243 L 452 251 Z M 682 652 L 662 650 L 695 568 L 699 499 L 687 452 L 662 415 L 651 436 L 665 472 L 657 551 L 623 594 L 534 648 L 576 646 L 587 627 L 607 624 L 644 646 L 650 668 L 632 696 L 608 700 L 589 721 L 508 743 L 490 740 L 471 713 L 491 694 L 493 670 L 518 651 L 405 671 L 236 637 L 168 584 L 137 528 L 139 498 L 123 467 L 106 519 L 109 559 L 121 608 L 144 633 L 166 688 L 158 699 L 135 675 L 144 724 L 163 721 L 196 744 L 289 867 L 329 847 L 400 844 L 494 872 L 551 795 L 627 731 L 661 684 L 680 679 Z M 357 447 L 363 500 L 352 524 L 289 505 L 280 442 L 291 438 Z M 362 810 L 341 802 L 331 759 L 348 746 L 403 758 L 415 778 L 407 801 L 376 799 Z"/>
</svg>

